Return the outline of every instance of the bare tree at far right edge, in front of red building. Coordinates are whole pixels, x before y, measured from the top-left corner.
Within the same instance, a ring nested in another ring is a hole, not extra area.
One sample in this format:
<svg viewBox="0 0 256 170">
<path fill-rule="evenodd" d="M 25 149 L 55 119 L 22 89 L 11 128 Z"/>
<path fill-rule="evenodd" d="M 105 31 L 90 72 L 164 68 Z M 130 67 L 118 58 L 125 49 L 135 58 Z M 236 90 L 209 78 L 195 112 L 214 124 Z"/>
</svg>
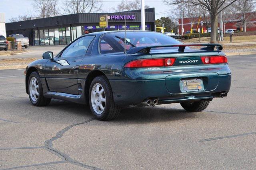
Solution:
<svg viewBox="0 0 256 170">
<path fill-rule="evenodd" d="M 252 0 L 237 0 L 231 6 L 233 14 L 237 14 L 237 18 L 240 20 L 236 24 L 238 27 L 243 27 L 243 31 L 246 32 L 246 26 L 255 26 L 250 20 L 256 17 L 255 3 Z"/>
</svg>

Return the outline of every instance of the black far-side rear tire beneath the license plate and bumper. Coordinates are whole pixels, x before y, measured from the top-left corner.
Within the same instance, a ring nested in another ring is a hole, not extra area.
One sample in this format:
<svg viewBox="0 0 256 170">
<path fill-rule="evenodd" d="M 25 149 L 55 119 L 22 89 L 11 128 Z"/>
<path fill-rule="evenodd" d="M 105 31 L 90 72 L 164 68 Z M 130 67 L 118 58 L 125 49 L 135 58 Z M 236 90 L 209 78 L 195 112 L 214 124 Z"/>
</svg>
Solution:
<svg viewBox="0 0 256 170">
<path fill-rule="evenodd" d="M 207 108 L 210 104 L 209 100 L 200 100 L 197 102 L 182 102 L 180 105 L 188 112 L 200 112 Z"/>
</svg>

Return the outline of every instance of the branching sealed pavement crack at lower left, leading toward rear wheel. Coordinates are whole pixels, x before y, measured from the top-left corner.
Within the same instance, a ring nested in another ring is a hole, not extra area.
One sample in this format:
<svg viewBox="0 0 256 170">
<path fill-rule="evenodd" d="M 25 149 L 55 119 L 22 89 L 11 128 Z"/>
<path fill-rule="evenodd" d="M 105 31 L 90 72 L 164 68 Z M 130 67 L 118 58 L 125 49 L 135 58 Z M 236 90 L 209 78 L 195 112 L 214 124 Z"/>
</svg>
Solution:
<svg viewBox="0 0 256 170">
<path fill-rule="evenodd" d="M 37 147 L 20 147 L 20 148 L 0 148 L 0 150 L 12 150 L 12 149 L 39 149 L 39 148 L 43 148 L 45 150 L 47 150 L 48 152 L 51 152 L 52 154 L 58 156 L 59 158 L 62 159 L 62 161 L 56 161 L 56 162 L 49 162 L 49 163 L 43 163 L 43 164 L 32 164 L 32 165 L 25 165 L 25 166 L 16 166 L 16 167 L 12 167 L 12 168 L 8 168 L 5 170 L 12 170 L 12 169 L 18 169 L 18 168 L 24 168 L 24 167 L 30 167 L 30 166 L 41 166 L 41 165 L 47 165 L 47 164 L 59 164 L 59 163 L 70 163 L 70 164 L 74 164 L 76 166 L 80 166 L 80 167 L 84 167 L 84 168 L 88 168 L 88 169 L 92 169 L 92 170 L 102 170 L 100 168 L 94 167 L 94 166 L 89 166 L 86 164 L 83 164 L 81 162 L 78 162 L 72 158 L 70 158 L 70 156 L 68 156 L 67 154 L 64 154 L 58 150 L 56 150 L 55 148 L 53 148 L 53 144 L 52 142 L 54 140 L 57 140 L 59 138 L 61 138 L 65 132 L 67 132 L 68 130 L 70 130 L 71 128 L 73 128 L 74 126 L 78 126 L 81 124 L 86 124 L 88 122 L 91 122 L 92 120 L 95 120 L 95 118 L 90 118 L 84 122 L 81 123 L 77 123 L 77 124 L 72 124 L 67 126 L 66 128 L 60 130 L 56 136 L 50 138 L 49 140 L 46 140 L 44 142 L 44 146 L 37 146 Z"/>
</svg>

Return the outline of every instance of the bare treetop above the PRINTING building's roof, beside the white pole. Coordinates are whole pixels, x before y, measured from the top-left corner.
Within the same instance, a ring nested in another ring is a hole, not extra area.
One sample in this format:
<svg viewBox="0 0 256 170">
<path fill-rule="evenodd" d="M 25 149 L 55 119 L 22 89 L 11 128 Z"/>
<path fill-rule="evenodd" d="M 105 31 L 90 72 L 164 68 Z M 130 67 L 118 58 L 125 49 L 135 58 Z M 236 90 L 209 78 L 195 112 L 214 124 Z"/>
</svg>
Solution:
<svg viewBox="0 0 256 170">
<path fill-rule="evenodd" d="M 140 8 L 140 0 L 132 0 L 129 2 L 122 0 L 122 2 L 114 7 L 113 10 L 115 12 L 122 12 L 124 10 L 140 10 Z M 146 4 L 145 8 L 149 8 L 149 6 Z"/>
</svg>

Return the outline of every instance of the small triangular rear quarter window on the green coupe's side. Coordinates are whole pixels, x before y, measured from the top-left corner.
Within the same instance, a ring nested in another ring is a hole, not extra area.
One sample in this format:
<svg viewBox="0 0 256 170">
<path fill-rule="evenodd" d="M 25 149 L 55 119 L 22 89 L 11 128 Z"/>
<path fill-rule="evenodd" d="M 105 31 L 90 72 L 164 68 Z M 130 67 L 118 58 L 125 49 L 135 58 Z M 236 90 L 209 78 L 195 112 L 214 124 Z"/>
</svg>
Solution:
<svg viewBox="0 0 256 170">
<path fill-rule="evenodd" d="M 120 50 L 113 42 L 110 42 L 110 40 L 103 36 L 100 39 L 100 53 L 106 54 L 111 52 L 120 52 Z"/>
</svg>

